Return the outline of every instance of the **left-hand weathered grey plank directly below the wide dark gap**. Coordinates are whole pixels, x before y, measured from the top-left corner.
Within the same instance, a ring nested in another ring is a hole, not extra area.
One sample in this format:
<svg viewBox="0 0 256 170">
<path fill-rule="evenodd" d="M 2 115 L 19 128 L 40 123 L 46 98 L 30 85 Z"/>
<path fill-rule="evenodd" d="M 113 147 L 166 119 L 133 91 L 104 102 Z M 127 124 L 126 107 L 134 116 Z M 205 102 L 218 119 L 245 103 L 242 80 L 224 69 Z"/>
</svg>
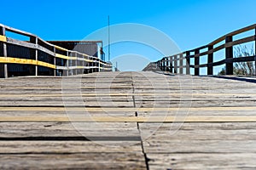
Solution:
<svg viewBox="0 0 256 170">
<path fill-rule="evenodd" d="M 137 141 L 6 140 L 0 141 L 1 154 L 142 153 Z"/>
</svg>

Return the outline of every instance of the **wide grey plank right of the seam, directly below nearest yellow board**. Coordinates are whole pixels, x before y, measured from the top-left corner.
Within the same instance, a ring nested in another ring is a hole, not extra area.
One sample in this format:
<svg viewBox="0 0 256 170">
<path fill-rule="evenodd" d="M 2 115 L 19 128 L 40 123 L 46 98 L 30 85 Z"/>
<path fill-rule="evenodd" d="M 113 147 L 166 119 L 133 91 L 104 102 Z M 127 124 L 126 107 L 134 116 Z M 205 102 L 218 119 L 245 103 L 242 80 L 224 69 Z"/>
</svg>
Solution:
<svg viewBox="0 0 256 170">
<path fill-rule="evenodd" d="M 142 138 L 156 141 L 255 140 L 255 122 L 139 123 Z M 154 129 L 154 131 L 152 131 Z"/>
</svg>

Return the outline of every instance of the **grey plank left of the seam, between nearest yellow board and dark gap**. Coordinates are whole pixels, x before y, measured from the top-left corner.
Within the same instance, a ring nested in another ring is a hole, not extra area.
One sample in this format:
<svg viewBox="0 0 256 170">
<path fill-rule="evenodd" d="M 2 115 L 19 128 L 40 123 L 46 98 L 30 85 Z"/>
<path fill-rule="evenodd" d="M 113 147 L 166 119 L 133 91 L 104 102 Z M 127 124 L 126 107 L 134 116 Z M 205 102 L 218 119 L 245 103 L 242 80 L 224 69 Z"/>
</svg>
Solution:
<svg viewBox="0 0 256 170">
<path fill-rule="evenodd" d="M 110 141 L 141 141 L 137 124 L 132 122 L 0 122 L 0 127 L 0 140 L 99 140 L 102 138 Z"/>
</svg>

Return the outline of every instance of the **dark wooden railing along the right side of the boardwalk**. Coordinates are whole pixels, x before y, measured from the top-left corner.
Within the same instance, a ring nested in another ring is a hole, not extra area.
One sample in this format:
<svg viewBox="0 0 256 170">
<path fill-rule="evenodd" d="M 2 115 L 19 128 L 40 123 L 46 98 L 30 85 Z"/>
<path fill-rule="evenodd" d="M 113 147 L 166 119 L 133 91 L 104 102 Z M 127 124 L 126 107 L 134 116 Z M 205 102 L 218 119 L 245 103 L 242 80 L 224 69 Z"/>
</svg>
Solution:
<svg viewBox="0 0 256 170">
<path fill-rule="evenodd" d="M 233 41 L 233 37 L 239 35 L 243 32 L 253 31 L 253 36 L 244 37 Z M 200 48 L 195 48 L 189 51 L 185 51 L 181 54 L 175 54 L 172 56 L 166 56 L 155 62 L 155 65 L 160 68 L 161 71 L 170 71 L 171 73 L 178 74 L 190 74 L 190 68 L 195 69 L 195 76 L 200 75 L 200 68 L 207 67 L 207 75 L 213 74 L 213 66 L 224 65 L 225 64 L 225 72 L 226 75 L 233 74 L 233 63 L 236 62 L 247 62 L 247 61 L 255 61 L 255 54 L 253 56 L 241 56 L 234 57 L 233 55 L 233 47 L 236 45 L 240 45 L 246 42 L 255 42 L 256 35 L 256 25 L 247 26 L 237 31 L 230 32 L 229 34 L 224 35 L 223 37 L 219 37 L 217 40 L 202 46 Z M 218 45 L 218 43 L 223 42 L 224 44 Z M 255 42 L 256 44 L 256 42 Z M 215 47 L 217 46 L 217 47 Z M 213 62 L 213 54 L 224 49 L 224 59 Z M 255 48 L 256 49 L 256 48 Z M 207 64 L 201 64 L 200 59 L 203 56 L 207 56 Z M 191 65 L 191 59 L 195 59 L 195 64 Z M 185 72 L 183 72 L 185 70 Z M 256 68 L 255 68 L 256 71 Z"/>
</svg>

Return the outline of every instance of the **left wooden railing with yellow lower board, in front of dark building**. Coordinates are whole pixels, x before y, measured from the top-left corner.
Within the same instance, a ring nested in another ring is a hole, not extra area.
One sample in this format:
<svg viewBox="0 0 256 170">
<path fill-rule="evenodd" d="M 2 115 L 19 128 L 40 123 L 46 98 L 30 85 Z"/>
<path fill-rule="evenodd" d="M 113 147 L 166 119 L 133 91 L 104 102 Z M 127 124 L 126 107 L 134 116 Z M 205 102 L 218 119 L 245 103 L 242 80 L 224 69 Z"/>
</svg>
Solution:
<svg viewBox="0 0 256 170">
<path fill-rule="evenodd" d="M 7 31 L 28 37 L 29 41 L 7 37 Z M 0 25 L 0 77 L 70 76 L 99 71 L 112 71 L 112 64 L 50 44 L 26 31 Z"/>
</svg>

